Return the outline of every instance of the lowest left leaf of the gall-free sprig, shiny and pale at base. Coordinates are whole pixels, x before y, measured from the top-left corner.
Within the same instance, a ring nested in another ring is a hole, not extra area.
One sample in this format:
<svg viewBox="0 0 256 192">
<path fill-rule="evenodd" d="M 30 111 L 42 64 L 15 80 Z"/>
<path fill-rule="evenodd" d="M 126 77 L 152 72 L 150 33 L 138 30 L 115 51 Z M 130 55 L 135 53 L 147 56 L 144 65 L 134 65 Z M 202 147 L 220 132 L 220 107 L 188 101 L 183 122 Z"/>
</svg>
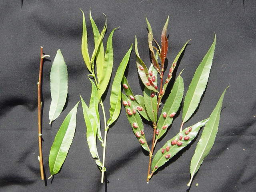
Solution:
<svg viewBox="0 0 256 192">
<path fill-rule="evenodd" d="M 86 124 L 86 139 L 88 142 L 90 153 L 92 154 L 92 157 L 96 159 L 96 164 L 98 166 L 102 166 L 98 150 L 96 146 L 96 135 L 97 135 L 97 122 L 94 118 L 94 115 L 92 114 L 91 110 L 88 108 L 86 103 L 84 102 L 83 98 L 80 96 L 82 101 L 82 108 L 84 113 L 84 121 Z"/>
</svg>

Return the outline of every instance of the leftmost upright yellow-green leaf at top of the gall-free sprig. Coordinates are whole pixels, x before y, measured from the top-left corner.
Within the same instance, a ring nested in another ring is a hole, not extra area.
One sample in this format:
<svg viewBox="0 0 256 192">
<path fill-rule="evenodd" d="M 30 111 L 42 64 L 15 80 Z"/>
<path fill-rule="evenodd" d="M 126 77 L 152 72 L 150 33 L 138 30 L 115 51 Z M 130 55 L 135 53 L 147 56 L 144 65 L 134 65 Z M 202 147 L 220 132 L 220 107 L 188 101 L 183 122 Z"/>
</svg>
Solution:
<svg viewBox="0 0 256 192">
<path fill-rule="evenodd" d="M 86 23 L 85 23 L 85 17 L 84 12 L 82 9 L 80 9 L 83 14 L 83 35 L 82 35 L 82 55 L 84 58 L 84 62 L 86 64 L 86 67 L 90 72 L 92 72 L 92 66 L 90 61 L 90 56 L 88 52 L 88 43 L 87 43 L 87 29 L 86 29 Z"/>
</svg>

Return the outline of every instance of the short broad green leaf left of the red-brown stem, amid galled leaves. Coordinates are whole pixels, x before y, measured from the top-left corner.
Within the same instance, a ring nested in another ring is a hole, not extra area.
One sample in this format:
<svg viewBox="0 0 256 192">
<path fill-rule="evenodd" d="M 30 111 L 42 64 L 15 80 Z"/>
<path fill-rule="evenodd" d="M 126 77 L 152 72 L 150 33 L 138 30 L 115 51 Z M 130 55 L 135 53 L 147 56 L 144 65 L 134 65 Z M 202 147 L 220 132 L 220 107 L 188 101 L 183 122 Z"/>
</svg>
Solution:
<svg viewBox="0 0 256 192">
<path fill-rule="evenodd" d="M 146 107 L 147 114 L 152 122 L 156 122 L 157 120 L 157 98 L 156 94 L 152 97 L 151 94 L 155 94 L 148 88 L 144 88 L 144 104 Z"/>
</svg>

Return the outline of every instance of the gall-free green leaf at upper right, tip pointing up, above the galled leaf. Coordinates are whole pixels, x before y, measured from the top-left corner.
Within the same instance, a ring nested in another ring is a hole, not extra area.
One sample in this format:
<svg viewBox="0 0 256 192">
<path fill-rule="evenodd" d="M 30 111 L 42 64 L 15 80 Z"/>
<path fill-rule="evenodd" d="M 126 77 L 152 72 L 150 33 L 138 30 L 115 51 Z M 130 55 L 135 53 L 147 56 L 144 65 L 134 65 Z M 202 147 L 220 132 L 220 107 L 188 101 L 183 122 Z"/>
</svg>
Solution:
<svg viewBox="0 0 256 192">
<path fill-rule="evenodd" d="M 206 88 L 206 84 L 208 82 L 211 66 L 212 66 L 212 59 L 214 55 L 214 49 L 216 44 L 216 36 L 214 36 L 214 42 L 212 46 L 204 56 L 202 62 L 196 69 L 194 77 L 190 83 L 188 88 L 188 92 L 185 96 L 183 112 L 182 112 L 182 122 L 185 123 L 191 115 L 196 110 L 201 96 L 204 93 Z"/>
</svg>

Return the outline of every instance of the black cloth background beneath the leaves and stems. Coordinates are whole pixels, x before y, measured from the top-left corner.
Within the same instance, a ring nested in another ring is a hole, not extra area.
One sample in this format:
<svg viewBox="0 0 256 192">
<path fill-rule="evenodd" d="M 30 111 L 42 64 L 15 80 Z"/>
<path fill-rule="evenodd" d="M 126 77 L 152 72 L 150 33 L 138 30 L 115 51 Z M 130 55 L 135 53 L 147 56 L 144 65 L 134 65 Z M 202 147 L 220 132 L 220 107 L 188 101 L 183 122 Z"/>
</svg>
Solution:
<svg viewBox="0 0 256 192">
<path fill-rule="evenodd" d="M 154 37 L 160 41 L 162 27 L 168 14 L 170 49 L 168 64 L 172 63 L 183 44 L 186 47 L 177 73 L 182 73 L 185 92 L 206 51 L 212 44 L 214 32 L 217 42 L 210 79 L 196 114 L 186 123 L 192 125 L 208 118 L 226 86 L 219 131 L 210 154 L 196 174 L 190 192 L 253 192 L 256 191 L 255 118 L 256 115 L 256 3 L 254 0 L 140 0 L 140 1 L 82 1 L 82 0 L 15 0 L 0 2 L 0 191 L 1 192 L 57 192 L 57 191 L 186 191 L 190 179 L 190 160 L 196 142 L 170 160 L 146 184 L 148 156 L 138 144 L 124 108 L 108 132 L 106 175 L 109 183 L 100 183 L 101 173 L 92 159 L 86 142 L 86 128 L 82 107 L 78 107 L 74 140 L 61 171 L 47 186 L 40 180 L 38 162 L 37 81 L 40 46 L 50 54 L 43 69 L 43 156 L 46 177 L 50 176 L 48 156 L 50 147 L 66 114 L 81 94 L 88 103 L 90 82 L 81 54 L 82 14 L 88 28 L 90 52 L 94 45 L 89 20 L 89 8 L 99 29 L 120 26 L 114 33 L 114 67 L 134 42 L 137 35 L 142 59 L 149 64 L 147 29 L 148 16 Z M 68 102 L 60 117 L 49 126 L 50 68 L 57 49 L 61 49 L 68 66 Z M 136 71 L 134 51 L 126 76 L 135 94 L 142 94 Z M 111 83 L 114 75 L 112 75 Z M 111 86 L 110 86 L 111 88 Z M 109 117 L 109 97 L 104 104 Z M 168 87 L 171 88 L 170 86 Z M 100 110 L 101 111 L 101 110 Z M 180 127 L 181 115 L 157 144 L 158 150 L 174 136 Z M 153 129 L 145 124 L 149 141 Z M 102 131 L 103 132 L 103 131 Z M 201 135 L 201 132 L 199 136 Z M 102 150 L 98 150 L 102 156 Z M 198 186 L 196 186 L 198 183 Z"/>
</svg>

